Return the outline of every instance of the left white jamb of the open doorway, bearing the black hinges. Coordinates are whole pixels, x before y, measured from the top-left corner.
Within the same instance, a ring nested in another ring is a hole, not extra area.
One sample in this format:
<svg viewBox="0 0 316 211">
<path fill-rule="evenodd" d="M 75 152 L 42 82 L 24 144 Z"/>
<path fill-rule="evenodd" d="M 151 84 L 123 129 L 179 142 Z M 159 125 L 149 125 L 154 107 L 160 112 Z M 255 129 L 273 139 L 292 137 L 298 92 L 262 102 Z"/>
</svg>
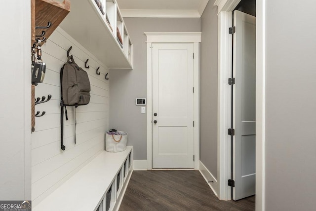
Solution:
<svg viewBox="0 0 316 211">
<path fill-rule="evenodd" d="M 218 89 L 217 89 L 217 178 L 219 184 L 218 198 L 231 200 L 231 188 L 227 185 L 231 179 L 231 128 L 232 90 L 228 78 L 232 75 L 232 35 L 228 33 L 232 27 L 232 12 L 221 11 L 218 14 Z"/>
</svg>

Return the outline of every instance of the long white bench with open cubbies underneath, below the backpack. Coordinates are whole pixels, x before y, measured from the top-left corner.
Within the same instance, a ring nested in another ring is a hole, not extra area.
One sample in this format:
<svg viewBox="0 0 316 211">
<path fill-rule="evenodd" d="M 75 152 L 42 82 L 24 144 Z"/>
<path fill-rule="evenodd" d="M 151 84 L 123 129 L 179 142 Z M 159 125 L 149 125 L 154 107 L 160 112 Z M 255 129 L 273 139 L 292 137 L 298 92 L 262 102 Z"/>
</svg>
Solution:
<svg viewBox="0 0 316 211">
<path fill-rule="evenodd" d="M 33 211 L 116 211 L 132 174 L 133 147 L 101 152 Z"/>
</svg>

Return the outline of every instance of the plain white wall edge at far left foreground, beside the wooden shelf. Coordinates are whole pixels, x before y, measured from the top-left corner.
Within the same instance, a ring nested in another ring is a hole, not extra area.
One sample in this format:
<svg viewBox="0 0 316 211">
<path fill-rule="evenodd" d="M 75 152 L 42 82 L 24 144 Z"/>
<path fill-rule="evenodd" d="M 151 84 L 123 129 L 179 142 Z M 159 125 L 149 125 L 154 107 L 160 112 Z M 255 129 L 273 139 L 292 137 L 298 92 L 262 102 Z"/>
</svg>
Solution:
<svg viewBox="0 0 316 211">
<path fill-rule="evenodd" d="M 31 1 L 0 7 L 0 200 L 31 199 Z"/>
</svg>

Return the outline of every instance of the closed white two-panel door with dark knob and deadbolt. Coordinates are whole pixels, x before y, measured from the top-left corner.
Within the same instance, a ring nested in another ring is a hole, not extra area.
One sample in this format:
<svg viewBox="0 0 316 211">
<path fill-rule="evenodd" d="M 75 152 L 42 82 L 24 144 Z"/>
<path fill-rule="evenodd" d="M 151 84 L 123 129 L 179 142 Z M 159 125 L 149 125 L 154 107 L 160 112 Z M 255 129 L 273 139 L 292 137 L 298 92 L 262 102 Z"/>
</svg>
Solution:
<svg viewBox="0 0 316 211">
<path fill-rule="evenodd" d="M 194 168 L 193 43 L 153 43 L 153 168 Z"/>
</svg>

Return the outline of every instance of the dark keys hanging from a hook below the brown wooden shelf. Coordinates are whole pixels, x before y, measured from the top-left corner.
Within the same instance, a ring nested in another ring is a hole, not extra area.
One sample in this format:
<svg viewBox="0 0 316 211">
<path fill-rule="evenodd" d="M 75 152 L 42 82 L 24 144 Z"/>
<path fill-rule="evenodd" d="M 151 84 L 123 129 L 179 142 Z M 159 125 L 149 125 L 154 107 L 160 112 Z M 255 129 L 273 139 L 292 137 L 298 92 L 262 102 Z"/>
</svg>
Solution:
<svg viewBox="0 0 316 211">
<path fill-rule="evenodd" d="M 33 63 L 33 52 L 32 52 L 32 63 Z M 41 83 L 44 80 L 46 71 L 46 64 L 41 60 L 41 42 L 38 40 L 37 47 L 37 58 L 34 62 L 34 67 L 32 70 L 32 83 Z"/>
</svg>

